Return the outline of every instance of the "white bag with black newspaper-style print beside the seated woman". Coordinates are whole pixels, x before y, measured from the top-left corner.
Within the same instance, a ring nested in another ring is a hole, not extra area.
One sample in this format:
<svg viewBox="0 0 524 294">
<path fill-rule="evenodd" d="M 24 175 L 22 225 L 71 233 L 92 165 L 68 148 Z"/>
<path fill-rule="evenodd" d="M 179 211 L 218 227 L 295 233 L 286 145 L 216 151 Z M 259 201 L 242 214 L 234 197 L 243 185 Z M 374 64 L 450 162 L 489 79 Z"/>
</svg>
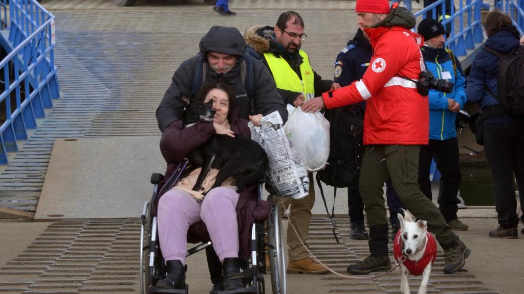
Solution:
<svg viewBox="0 0 524 294">
<path fill-rule="evenodd" d="M 267 181 L 280 197 L 302 199 L 309 194 L 308 172 L 300 162 L 300 155 L 288 140 L 278 111 L 262 118 L 259 127 L 248 123 L 251 139 L 267 153 L 269 169 Z"/>
</svg>

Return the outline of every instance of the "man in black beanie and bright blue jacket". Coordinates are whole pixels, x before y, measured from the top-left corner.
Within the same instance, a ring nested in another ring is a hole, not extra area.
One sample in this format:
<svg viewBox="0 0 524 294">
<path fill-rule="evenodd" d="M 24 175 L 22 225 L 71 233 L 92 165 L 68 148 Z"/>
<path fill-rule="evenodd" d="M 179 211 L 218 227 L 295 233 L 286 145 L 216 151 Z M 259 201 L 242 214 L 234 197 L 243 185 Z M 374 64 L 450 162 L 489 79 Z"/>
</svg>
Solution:
<svg viewBox="0 0 524 294">
<path fill-rule="evenodd" d="M 457 112 L 466 104 L 466 80 L 460 62 L 450 49 L 444 46 L 446 31 L 442 24 L 431 18 L 423 19 L 417 29 L 424 37 L 421 48 L 428 71 L 438 79 L 454 83 L 453 92 L 429 91 L 429 143 L 420 146 L 419 185 L 430 200 L 429 178 L 431 160 L 441 173 L 439 210 L 453 230 L 466 231 L 467 225 L 457 218 L 460 200 L 457 198 L 461 180 L 459 169 L 459 142 L 455 129 Z"/>
</svg>

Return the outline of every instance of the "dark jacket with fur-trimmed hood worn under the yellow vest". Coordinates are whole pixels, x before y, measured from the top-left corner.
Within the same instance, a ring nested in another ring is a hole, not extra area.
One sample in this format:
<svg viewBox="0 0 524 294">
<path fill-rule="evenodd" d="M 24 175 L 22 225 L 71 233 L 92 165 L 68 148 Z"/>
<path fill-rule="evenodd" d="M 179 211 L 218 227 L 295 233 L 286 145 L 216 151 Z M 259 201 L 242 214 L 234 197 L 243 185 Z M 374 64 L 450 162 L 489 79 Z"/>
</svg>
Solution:
<svg viewBox="0 0 524 294">
<path fill-rule="evenodd" d="M 275 39 L 275 28 L 270 26 L 254 26 L 246 30 L 244 38 L 249 46 L 253 47 L 257 53 L 262 56 L 262 61 L 269 69 L 266 59 L 264 58 L 263 53 L 273 53 L 276 56 L 283 58 L 287 61 L 291 69 L 298 75 L 300 80 L 302 80 L 302 73 L 300 71 L 300 65 L 303 62 L 302 56 L 297 52 L 293 54 L 287 53 L 284 48 L 277 42 Z M 329 91 L 333 81 L 322 80 L 322 77 L 318 75 L 315 71 L 314 74 L 314 84 L 315 96 L 320 96 L 322 93 Z M 278 89 L 280 96 L 284 100 L 284 104 L 293 105 L 293 101 L 297 98 L 300 93 L 288 91 L 285 89 Z"/>
</svg>

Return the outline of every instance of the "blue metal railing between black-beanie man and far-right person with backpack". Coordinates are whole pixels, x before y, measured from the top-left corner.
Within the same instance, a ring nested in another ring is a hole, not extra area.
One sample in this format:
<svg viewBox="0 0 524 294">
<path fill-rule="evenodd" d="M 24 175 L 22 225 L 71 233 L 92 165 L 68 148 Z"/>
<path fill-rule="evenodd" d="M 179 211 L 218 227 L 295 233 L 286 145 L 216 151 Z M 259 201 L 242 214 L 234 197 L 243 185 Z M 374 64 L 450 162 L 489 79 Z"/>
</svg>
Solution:
<svg viewBox="0 0 524 294">
<path fill-rule="evenodd" d="M 446 47 L 456 55 L 465 56 L 468 49 L 474 49 L 475 43 L 481 43 L 484 39 L 481 23 L 482 2 L 466 0 L 464 4 L 464 1 L 459 1 L 459 7 L 455 10 L 455 5 L 450 4 L 453 1 L 438 0 L 424 7 L 415 16 L 442 20 L 442 25 L 449 32 Z"/>
</svg>

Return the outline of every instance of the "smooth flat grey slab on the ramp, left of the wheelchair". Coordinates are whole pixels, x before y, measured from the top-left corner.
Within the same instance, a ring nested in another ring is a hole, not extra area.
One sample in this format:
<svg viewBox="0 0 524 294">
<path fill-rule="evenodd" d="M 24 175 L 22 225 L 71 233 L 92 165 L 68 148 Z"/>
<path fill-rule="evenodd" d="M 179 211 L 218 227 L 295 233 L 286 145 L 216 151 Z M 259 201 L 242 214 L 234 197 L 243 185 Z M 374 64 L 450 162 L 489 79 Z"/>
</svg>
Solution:
<svg viewBox="0 0 524 294">
<path fill-rule="evenodd" d="M 139 217 L 151 173 L 166 163 L 159 136 L 59 139 L 35 220 Z"/>
</svg>

